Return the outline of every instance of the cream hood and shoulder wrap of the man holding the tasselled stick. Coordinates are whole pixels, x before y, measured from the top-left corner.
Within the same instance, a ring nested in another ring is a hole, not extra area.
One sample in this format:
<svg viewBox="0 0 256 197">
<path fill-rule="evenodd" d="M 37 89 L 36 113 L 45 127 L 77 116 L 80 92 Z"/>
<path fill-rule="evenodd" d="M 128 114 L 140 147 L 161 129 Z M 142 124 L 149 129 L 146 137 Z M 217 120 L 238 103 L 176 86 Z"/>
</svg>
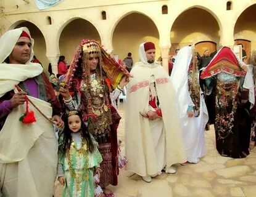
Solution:
<svg viewBox="0 0 256 197">
<path fill-rule="evenodd" d="M 0 39 L 0 98 L 13 90 L 15 85 L 28 78 L 34 78 L 43 72 L 43 68 L 39 63 L 31 63 L 33 58 L 34 39 L 31 38 L 31 54 L 28 62 L 23 64 L 5 63 L 7 57 L 12 53 L 15 44 L 20 38 L 22 31 L 25 31 L 30 36 L 28 28 L 22 27 L 15 30 L 10 30 L 4 33 Z"/>
</svg>

